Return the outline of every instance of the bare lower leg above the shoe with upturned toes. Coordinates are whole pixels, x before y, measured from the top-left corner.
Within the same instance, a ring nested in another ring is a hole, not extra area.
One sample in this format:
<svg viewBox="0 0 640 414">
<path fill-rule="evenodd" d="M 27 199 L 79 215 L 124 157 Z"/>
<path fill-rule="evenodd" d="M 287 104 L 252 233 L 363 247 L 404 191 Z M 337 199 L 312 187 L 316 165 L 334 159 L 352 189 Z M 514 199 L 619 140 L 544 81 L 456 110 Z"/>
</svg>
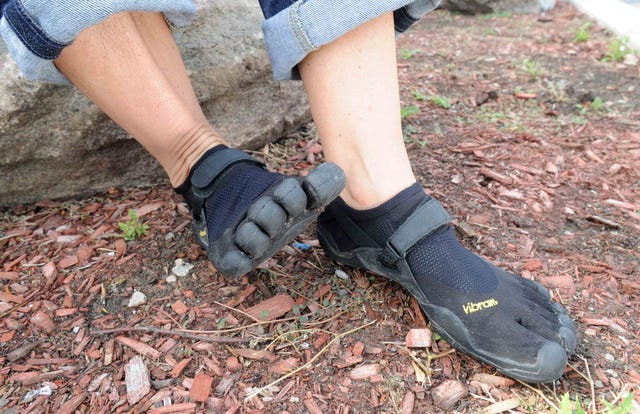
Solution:
<svg viewBox="0 0 640 414">
<path fill-rule="evenodd" d="M 160 162 L 174 186 L 207 149 L 223 143 L 159 13 L 113 15 L 80 33 L 55 64 Z"/>
</svg>

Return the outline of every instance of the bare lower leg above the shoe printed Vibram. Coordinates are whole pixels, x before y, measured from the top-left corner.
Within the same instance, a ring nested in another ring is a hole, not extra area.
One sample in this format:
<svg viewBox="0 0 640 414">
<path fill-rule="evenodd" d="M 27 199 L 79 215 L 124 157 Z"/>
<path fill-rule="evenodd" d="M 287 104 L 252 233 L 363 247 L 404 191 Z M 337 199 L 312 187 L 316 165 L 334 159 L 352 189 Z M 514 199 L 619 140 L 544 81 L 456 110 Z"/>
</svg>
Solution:
<svg viewBox="0 0 640 414">
<path fill-rule="evenodd" d="M 387 14 L 300 64 L 326 157 L 347 176 L 342 198 L 357 209 L 379 205 L 416 181 L 402 137 L 395 47 Z"/>
</svg>

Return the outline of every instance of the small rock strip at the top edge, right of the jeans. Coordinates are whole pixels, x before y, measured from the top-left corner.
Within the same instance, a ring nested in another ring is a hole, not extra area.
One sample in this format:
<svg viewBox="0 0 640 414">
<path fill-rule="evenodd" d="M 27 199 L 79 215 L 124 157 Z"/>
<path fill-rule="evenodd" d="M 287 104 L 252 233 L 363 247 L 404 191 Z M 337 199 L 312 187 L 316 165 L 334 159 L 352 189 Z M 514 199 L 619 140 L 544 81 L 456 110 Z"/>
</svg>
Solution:
<svg viewBox="0 0 640 414">
<path fill-rule="evenodd" d="M 551 10 L 555 4 L 555 0 L 442 0 L 440 7 L 465 14 L 541 13 Z"/>
</svg>

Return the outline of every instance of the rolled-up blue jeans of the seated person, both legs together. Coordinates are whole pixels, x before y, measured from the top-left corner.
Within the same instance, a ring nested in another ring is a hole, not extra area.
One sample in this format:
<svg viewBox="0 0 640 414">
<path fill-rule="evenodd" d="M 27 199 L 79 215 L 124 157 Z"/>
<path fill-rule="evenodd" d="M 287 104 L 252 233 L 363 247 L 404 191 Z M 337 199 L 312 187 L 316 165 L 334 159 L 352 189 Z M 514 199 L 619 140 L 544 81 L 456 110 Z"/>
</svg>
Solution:
<svg viewBox="0 0 640 414">
<path fill-rule="evenodd" d="M 298 77 L 311 51 L 393 11 L 403 32 L 440 0 L 259 0 L 265 42 L 276 79 Z M 0 0 L 0 34 L 21 72 L 32 80 L 68 83 L 53 60 L 78 33 L 121 11 L 162 12 L 176 27 L 196 13 L 192 0 Z"/>
</svg>

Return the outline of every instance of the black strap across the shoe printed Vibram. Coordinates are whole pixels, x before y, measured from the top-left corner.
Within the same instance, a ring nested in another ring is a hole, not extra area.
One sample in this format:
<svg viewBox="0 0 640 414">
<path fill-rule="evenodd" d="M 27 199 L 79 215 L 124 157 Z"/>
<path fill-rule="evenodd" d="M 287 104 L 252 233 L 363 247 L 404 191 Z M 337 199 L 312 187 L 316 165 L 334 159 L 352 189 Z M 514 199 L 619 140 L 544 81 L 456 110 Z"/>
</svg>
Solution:
<svg viewBox="0 0 640 414">
<path fill-rule="evenodd" d="M 420 204 L 387 241 L 380 261 L 395 264 L 420 240 L 449 224 L 451 216 L 435 198 Z"/>
</svg>

